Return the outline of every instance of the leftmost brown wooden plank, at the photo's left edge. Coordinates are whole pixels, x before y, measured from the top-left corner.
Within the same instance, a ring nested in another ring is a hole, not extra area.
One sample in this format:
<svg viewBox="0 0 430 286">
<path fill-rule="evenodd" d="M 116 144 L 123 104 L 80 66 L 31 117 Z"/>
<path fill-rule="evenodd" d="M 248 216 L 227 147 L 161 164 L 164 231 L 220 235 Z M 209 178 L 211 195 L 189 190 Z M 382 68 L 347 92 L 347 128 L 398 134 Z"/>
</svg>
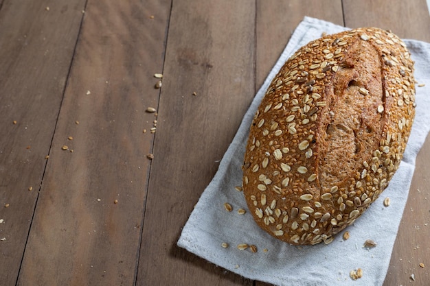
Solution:
<svg viewBox="0 0 430 286">
<path fill-rule="evenodd" d="M 58 0 L 49 3 L 49 11 L 47 1 L 0 5 L 0 284 L 14 285 L 84 0 Z"/>
</svg>

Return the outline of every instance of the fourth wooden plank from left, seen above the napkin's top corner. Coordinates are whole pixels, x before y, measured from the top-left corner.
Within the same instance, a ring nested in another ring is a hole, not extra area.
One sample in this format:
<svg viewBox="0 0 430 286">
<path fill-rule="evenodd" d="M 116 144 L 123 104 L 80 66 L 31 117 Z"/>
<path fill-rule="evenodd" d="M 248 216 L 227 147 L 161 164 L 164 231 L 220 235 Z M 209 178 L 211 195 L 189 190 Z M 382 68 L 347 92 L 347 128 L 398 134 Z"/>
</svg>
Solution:
<svg viewBox="0 0 430 286">
<path fill-rule="evenodd" d="M 343 25 L 341 0 L 257 1 L 257 81 L 260 88 L 304 16 Z"/>
</svg>

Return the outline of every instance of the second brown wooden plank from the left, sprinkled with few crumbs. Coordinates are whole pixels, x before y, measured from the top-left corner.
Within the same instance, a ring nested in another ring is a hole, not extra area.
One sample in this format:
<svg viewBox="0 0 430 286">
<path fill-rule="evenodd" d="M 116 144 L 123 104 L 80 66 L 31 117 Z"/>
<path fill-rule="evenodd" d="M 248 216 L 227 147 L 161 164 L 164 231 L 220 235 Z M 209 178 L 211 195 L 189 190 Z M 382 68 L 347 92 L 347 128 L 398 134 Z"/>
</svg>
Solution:
<svg viewBox="0 0 430 286">
<path fill-rule="evenodd" d="M 135 283 L 169 14 L 87 2 L 19 285 Z"/>
</svg>

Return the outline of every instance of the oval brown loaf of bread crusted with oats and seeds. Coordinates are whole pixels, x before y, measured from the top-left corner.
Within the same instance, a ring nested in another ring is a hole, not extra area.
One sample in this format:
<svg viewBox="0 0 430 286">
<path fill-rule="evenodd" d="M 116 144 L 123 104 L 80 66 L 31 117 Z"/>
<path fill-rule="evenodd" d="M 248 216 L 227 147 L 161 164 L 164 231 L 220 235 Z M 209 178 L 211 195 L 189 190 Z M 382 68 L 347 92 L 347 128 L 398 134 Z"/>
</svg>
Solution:
<svg viewBox="0 0 430 286">
<path fill-rule="evenodd" d="M 271 82 L 242 167 L 258 226 L 294 245 L 330 243 L 387 187 L 415 115 L 414 62 L 377 28 L 323 36 Z"/>
</svg>

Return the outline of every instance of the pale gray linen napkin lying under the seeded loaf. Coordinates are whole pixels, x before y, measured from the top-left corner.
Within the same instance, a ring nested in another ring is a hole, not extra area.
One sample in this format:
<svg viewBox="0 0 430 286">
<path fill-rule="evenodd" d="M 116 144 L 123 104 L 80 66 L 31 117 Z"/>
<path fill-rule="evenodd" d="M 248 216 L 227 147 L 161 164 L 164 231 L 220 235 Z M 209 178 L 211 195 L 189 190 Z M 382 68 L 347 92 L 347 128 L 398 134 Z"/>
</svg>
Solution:
<svg viewBox="0 0 430 286">
<path fill-rule="evenodd" d="M 291 36 L 282 56 L 273 67 L 258 91 L 242 124 L 221 160 L 214 179 L 207 186 L 199 202 L 183 227 L 178 245 L 216 265 L 246 278 L 266 281 L 275 285 L 382 285 L 387 273 L 400 219 L 407 201 L 414 174 L 415 160 L 430 130 L 430 44 L 405 40 L 412 58 L 416 61 L 416 119 L 405 151 L 403 162 L 392 178 L 389 187 L 357 221 L 346 228 L 350 239 L 343 240 L 340 233 L 332 243 L 316 246 L 291 246 L 274 239 L 254 222 L 249 212 L 239 215 L 238 209 L 247 211 L 243 193 L 235 189 L 242 183 L 242 160 L 249 126 L 272 78 L 286 59 L 302 45 L 319 38 L 322 32 L 341 32 L 345 27 L 305 17 Z M 384 198 L 391 204 L 383 206 Z M 227 212 L 224 203 L 231 204 Z M 377 243 L 364 248 L 366 239 Z M 221 243 L 228 243 L 228 248 Z M 255 245 L 238 250 L 240 243 Z M 363 270 L 363 277 L 352 281 L 350 271 Z"/>
</svg>

